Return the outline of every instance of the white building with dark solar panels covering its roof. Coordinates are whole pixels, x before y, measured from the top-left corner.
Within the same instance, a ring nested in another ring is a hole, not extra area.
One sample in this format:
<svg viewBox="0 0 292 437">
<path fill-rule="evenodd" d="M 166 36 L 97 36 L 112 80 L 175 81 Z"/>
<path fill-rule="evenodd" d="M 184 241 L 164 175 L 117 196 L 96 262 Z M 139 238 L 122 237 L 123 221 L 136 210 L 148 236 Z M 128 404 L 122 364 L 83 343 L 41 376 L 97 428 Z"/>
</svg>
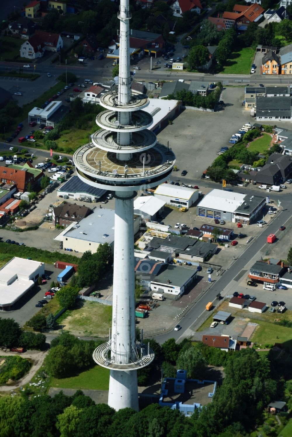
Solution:
<svg viewBox="0 0 292 437">
<path fill-rule="evenodd" d="M 72 176 L 58 189 L 57 196 L 84 202 L 98 202 L 105 193 L 106 190 L 91 187 L 80 180 L 79 177 Z"/>
</svg>

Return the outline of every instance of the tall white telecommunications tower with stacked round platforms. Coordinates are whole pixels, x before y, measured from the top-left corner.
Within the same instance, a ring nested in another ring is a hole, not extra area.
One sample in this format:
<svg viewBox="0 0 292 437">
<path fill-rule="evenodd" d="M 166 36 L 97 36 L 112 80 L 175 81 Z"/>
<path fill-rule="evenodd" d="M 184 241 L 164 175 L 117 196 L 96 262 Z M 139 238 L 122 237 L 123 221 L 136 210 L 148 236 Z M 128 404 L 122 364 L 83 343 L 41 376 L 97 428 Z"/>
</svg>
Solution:
<svg viewBox="0 0 292 437">
<path fill-rule="evenodd" d="M 120 0 L 118 18 L 118 91 L 100 98 L 106 109 L 96 117 L 101 129 L 74 153 L 74 163 L 81 180 L 113 191 L 115 197 L 112 330 L 93 358 L 110 370 L 109 406 L 138 410 L 137 370 L 150 364 L 154 353 L 135 338 L 133 199 L 137 189 L 155 187 L 169 178 L 175 156 L 168 147 L 156 144 L 156 135 L 148 130 L 153 121 L 143 111 L 148 97 L 131 90 L 129 0 Z"/>
</svg>

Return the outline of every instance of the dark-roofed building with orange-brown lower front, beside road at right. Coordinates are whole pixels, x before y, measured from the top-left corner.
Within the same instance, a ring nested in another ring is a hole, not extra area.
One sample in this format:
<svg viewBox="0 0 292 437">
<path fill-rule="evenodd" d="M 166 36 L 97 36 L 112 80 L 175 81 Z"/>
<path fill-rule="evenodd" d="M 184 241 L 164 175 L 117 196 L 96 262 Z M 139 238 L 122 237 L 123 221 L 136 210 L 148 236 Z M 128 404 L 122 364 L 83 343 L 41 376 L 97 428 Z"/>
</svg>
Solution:
<svg viewBox="0 0 292 437">
<path fill-rule="evenodd" d="M 280 261 L 280 264 L 271 264 L 270 260 L 256 261 L 253 266 L 250 267 L 250 273 L 248 277 L 253 281 L 269 282 L 270 284 L 277 284 L 280 277 L 287 271 L 284 267 L 284 263 Z"/>
</svg>

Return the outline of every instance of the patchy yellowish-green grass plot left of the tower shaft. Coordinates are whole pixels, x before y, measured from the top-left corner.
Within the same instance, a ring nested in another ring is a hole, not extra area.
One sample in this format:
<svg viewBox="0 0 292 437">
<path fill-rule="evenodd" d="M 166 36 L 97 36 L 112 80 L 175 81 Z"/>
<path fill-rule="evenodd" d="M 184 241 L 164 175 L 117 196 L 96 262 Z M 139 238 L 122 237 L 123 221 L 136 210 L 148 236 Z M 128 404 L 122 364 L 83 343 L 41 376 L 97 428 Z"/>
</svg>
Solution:
<svg viewBox="0 0 292 437">
<path fill-rule="evenodd" d="M 74 335 L 107 337 L 112 324 L 112 307 L 77 299 L 75 308 L 62 315 L 64 329 Z M 60 320 L 58 320 L 60 323 Z"/>
</svg>

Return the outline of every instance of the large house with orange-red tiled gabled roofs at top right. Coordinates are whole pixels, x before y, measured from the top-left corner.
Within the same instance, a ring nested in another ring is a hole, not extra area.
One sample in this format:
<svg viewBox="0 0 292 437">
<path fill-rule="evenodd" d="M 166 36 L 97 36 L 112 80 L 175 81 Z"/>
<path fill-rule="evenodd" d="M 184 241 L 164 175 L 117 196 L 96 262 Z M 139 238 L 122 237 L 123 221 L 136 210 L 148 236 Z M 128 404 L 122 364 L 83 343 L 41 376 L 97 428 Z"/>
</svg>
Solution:
<svg viewBox="0 0 292 437">
<path fill-rule="evenodd" d="M 264 9 L 258 4 L 253 3 L 250 6 L 235 4 L 232 12 L 225 11 L 223 18 L 234 20 L 237 31 L 245 31 L 250 23 L 256 23 L 263 17 Z"/>
</svg>

